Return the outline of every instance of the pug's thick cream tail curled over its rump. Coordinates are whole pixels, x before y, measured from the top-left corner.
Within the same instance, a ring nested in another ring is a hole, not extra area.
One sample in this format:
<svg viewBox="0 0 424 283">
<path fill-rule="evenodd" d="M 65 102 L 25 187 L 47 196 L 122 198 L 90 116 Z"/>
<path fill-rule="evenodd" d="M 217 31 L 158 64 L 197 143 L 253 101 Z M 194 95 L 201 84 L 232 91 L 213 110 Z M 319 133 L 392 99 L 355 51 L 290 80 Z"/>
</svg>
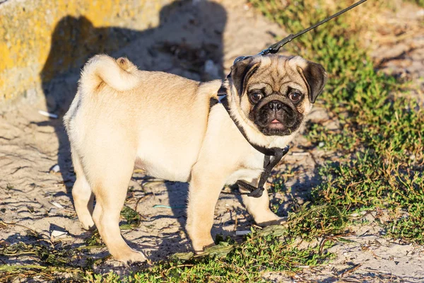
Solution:
<svg viewBox="0 0 424 283">
<path fill-rule="evenodd" d="M 136 71 L 137 67 L 124 57 L 115 60 L 105 54 L 95 55 L 81 72 L 81 91 L 91 93 L 102 82 L 117 91 L 129 91 L 140 82 Z"/>
</svg>

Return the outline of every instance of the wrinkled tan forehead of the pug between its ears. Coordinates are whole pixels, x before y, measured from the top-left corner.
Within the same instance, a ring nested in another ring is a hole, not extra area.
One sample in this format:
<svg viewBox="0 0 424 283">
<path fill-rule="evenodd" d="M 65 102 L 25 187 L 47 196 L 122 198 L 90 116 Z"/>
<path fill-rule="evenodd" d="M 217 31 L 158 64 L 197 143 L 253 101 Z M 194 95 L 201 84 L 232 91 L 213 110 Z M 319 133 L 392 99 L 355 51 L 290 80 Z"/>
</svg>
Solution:
<svg viewBox="0 0 424 283">
<path fill-rule="evenodd" d="M 276 91 L 287 93 L 289 89 L 295 88 L 307 93 L 307 86 L 301 74 L 305 66 L 305 59 L 301 57 L 279 55 L 261 57 L 259 69 L 247 82 L 247 91 L 261 89 L 267 94 Z"/>
</svg>

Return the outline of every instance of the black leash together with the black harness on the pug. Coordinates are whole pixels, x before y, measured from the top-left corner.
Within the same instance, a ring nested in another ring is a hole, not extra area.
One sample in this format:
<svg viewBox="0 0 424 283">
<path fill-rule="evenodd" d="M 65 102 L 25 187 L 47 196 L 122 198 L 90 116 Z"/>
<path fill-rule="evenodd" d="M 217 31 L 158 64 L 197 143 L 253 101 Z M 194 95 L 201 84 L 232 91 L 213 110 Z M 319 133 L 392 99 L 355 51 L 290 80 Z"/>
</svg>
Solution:
<svg viewBox="0 0 424 283">
<path fill-rule="evenodd" d="M 317 28 L 317 26 L 322 25 L 323 23 L 326 23 L 330 21 L 333 18 L 336 18 L 337 16 L 340 16 L 342 13 L 346 13 L 347 11 L 351 10 L 352 8 L 355 8 L 356 6 L 363 4 L 367 0 L 360 0 L 356 2 L 355 4 L 348 6 L 348 8 L 345 8 L 338 13 L 335 13 L 333 16 L 329 16 L 329 18 L 324 19 L 323 21 L 320 21 L 309 28 L 302 30 L 299 33 L 296 33 L 295 35 L 290 34 L 287 37 L 283 38 L 283 40 L 280 40 L 279 42 L 271 45 L 270 47 L 266 48 L 265 50 L 262 50 L 258 53 L 258 55 L 266 55 L 266 54 L 275 54 L 280 50 L 281 47 L 283 47 L 288 42 L 292 41 L 296 37 L 299 37 L 300 35 L 307 33 L 310 30 L 313 30 L 314 28 Z M 234 63 L 247 59 L 250 56 L 240 56 L 237 57 L 234 61 Z M 211 98 L 210 101 L 210 108 L 213 107 L 213 105 L 216 105 L 217 103 L 221 103 L 225 110 L 227 110 L 228 115 L 230 115 L 232 121 L 237 126 L 237 129 L 242 133 L 243 137 L 249 142 L 250 145 L 254 147 L 257 151 L 264 154 L 264 172 L 261 173 L 261 177 L 259 178 L 258 187 L 254 187 L 242 180 L 237 180 L 236 184 L 239 186 L 244 187 L 246 190 L 249 190 L 249 192 L 223 192 L 224 194 L 228 195 L 248 195 L 249 197 L 261 197 L 261 195 L 264 192 L 264 185 L 266 183 L 266 180 L 269 178 L 269 175 L 271 175 L 272 169 L 278 164 L 278 162 L 281 161 L 281 158 L 285 156 L 285 154 L 288 153 L 288 149 L 290 149 L 290 146 L 285 146 L 284 149 L 280 149 L 278 147 L 272 147 L 271 149 L 267 149 L 264 146 L 259 146 L 257 144 L 252 144 L 251 141 L 247 138 L 247 135 L 245 133 L 245 130 L 240 126 L 239 122 L 231 115 L 230 108 L 228 106 L 228 98 L 227 98 L 227 89 L 225 86 L 221 86 L 218 90 L 218 100 L 216 98 Z M 271 160 L 271 156 L 273 156 Z"/>
</svg>

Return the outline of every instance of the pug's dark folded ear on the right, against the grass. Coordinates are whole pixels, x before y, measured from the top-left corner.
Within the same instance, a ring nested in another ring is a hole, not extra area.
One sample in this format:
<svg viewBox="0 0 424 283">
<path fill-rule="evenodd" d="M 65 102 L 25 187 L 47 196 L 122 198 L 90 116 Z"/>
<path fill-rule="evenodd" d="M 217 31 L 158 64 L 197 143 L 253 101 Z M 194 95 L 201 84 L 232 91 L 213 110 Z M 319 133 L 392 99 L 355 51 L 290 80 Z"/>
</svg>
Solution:
<svg viewBox="0 0 424 283">
<path fill-rule="evenodd" d="M 298 67 L 298 71 L 302 75 L 302 78 L 305 80 L 307 85 L 310 102 L 314 103 L 315 100 L 317 100 L 319 94 L 322 93 L 322 90 L 324 89 L 325 83 L 327 81 L 326 71 L 322 65 L 309 61 L 307 62 L 306 67 L 303 69 Z"/>
</svg>

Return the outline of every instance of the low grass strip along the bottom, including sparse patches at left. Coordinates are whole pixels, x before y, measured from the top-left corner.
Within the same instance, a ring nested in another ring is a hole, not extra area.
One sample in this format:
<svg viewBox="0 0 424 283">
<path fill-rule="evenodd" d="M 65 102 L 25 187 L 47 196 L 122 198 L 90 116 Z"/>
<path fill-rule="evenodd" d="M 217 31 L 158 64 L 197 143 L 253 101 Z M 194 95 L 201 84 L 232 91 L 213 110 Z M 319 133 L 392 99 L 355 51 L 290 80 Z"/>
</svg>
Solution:
<svg viewBox="0 0 424 283">
<path fill-rule="evenodd" d="M 155 262 L 151 267 L 143 265 L 141 271 L 124 279 L 113 272 L 106 275 L 93 272 L 94 265 L 110 258 L 93 260 L 90 255 L 84 255 L 85 250 L 102 247 L 97 232 L 86 240 L 87 246 L 78 248 L 49 243 L 37 236 L 40 241 L 35 244 L 20 242 L 0 248 L 2 258 L 30 256 L 36 259 L 28 265 L 0 265 L 0 276 L 6 282 L 17 277 L 54 280 L 64 274 L 69 282 L 259 282 L 267 272 L 296 272 L 303 265 L 313 267 L 332 258 L 326 252 L 333 244 L 331 239 L 299 248 L 299 243 L 286 235 L 287 229 L 283 226 L 252 229 L 252 234 L 241 244 L 220 239 L 218 246 L 208 249 L 206 255 L 175 254 L 170 260 Z"/>
</svg>

